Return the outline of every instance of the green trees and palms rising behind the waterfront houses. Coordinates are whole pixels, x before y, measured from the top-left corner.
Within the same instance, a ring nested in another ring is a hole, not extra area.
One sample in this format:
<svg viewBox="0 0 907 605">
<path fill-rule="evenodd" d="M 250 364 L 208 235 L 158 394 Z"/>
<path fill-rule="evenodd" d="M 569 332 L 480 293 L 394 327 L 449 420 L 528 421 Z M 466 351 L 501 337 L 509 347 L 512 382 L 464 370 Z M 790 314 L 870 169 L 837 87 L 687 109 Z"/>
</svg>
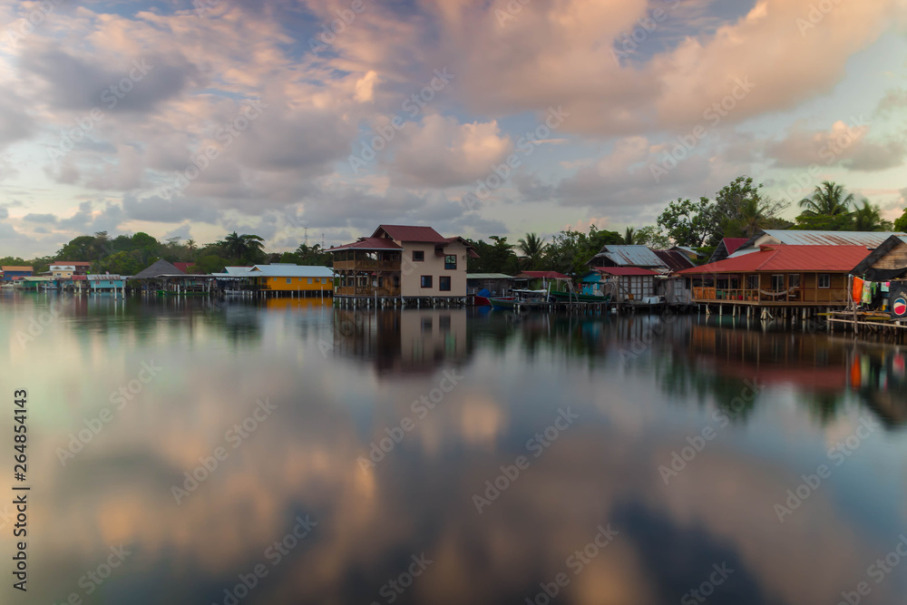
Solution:
<svg viewBox="0 0 907 605">
<path fill-rule="evenodd" d="M 814 229 L 833 231 L 907 231 L 907 209 L 893 223 L 883 220 L 881 209 L 869 200 L 857 201 L 844 186 L 824 181 L 810 197 L 797 203 L 800 214 L 792 222 L 780 217 L 791 204 L 762 192 L 762 184 L 740 176 L 717 191 L 714 200 L 678 198 L 668 202 L 655 225 L 628 227 L 619 231 L 590 225 L 585 231 L 562 229 L 550 241 L 527 233 L 515 244 L 506 237 L 488 241 L 468 239 L 479 258 L 469 259 L 471 273 L 506 273 L 551 270 L 580 275 L 586 263 L 603 246 L 640 244 L 652 249 L 683 246 L 695 249 L 699 259 L 708 259 L 723 238 L 751 237 L 760 229 Z M 236 231 L 224 239 L 199 245 L 194 239 L 170 238 L 160 241 L 147 233 L 111 237 L 106 231 L 70 240 L 56 254 L 34 259 L 18 256 L 0 258 L 0 265 L 30 266 L 34 274 L 48 270 L 56 260 L 83 260 L 92 263 L 92 273 L 135 275 L 157 259 L 189 262 L 195 273 L 210 274 L 229 266 L 291 263 L 330 267 L 330 252 L 319 244 L 302 243 L 291 252 L 267 252 L 265 240 Z"/>
</svg>

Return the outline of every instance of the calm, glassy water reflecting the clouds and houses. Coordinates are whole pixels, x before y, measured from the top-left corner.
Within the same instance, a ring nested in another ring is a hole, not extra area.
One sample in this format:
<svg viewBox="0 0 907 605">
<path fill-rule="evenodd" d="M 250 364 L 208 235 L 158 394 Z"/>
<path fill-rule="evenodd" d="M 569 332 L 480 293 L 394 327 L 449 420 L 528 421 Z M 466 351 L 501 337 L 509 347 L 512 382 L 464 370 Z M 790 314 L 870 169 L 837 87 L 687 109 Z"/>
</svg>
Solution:
<svg viewBox="0 0 907 605">
<path fill-rule="evenodd" d="M 0 297 L 4 468 L 26 388 L 32 485 L 29 591 L 4 571 L 0 601 L 907 602 L 903 349 L 695 316 L 54 300 Z"/>
</svg>

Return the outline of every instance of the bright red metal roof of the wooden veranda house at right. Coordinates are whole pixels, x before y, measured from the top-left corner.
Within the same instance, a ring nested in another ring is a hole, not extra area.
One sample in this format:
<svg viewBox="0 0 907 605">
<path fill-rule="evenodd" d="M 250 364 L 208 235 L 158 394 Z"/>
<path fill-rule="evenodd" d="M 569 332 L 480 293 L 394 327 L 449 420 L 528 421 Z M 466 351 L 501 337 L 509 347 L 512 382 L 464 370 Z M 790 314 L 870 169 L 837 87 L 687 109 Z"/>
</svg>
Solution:
<svg viewBox="0 0 907 605">
<path fill-rule="evenodd" d="M 850 271 L 869 255 L 864 246 L 763 246 L 758 252 L 688 268 L 680 275 L 770 271 Z"/>
</svg>

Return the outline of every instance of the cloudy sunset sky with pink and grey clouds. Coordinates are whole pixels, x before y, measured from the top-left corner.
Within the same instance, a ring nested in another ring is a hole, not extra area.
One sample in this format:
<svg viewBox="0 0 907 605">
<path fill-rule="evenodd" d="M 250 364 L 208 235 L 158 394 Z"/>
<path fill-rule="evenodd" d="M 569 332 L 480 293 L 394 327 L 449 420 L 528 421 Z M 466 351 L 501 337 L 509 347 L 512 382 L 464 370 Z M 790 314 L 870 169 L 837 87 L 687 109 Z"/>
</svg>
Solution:
<svg viewBox="0 0 907 605">
<path fill-rule="evenodd" d="M 907 206 L 907 0 L 0 0 L 0 257 Z"/>
</svg>

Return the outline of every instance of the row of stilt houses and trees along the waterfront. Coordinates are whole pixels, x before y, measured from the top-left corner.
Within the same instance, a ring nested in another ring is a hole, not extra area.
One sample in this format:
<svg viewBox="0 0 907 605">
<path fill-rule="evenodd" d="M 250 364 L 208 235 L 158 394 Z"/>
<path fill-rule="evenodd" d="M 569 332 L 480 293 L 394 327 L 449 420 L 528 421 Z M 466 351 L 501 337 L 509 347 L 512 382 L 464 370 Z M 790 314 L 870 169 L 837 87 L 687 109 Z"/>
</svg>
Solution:
<svg viewBox="0 0 907 605">
<path fill-rule="evenodd" d="M 729 187 L 736 187 L 738 197 L 747 188 L 756 190 L 743 178 Z M 172 262 L 163 257 L 179 256 L 168 254 L 179 242 L 161 245 L 143 233 L 116 239 L 99 233 L 73 239 L 44 270 L 13 264 L 0 269 L 5 290 L 317 297 L 333 298 L 344 307 L 473 305 L 593 313 L 670 309 L 794 321 L 824 316 L 856 331 L 864 327 L 902 337 L 907 328 L 907 234 L 881 220 L 874 221 L 873 230 L 841 229 L 847 226 L 844 217 L 854 215 L 859 227 L 860 213 L 847 211 L 852 196 L 842 200 L 843 195 L 834 183 L 816 187 L 813 198 L 801 202 L 806 210 L 796 224 L 772 220 L 772 210 L 764 206 L 762 220 L 742 219 L 746 229 L 736 229 L 742 237 L 716 238 L 710 247 L 703 245 L 704 224 L 715 215 L 707 216 L 711 202 L 703 199 L 671 202 L 658 220 L 670 238 L 652 237 L 651 228 L 638 233 L 627 229 L 621 236 L 592 226 L 588 235 L 561 231 L 545 244 L 529 233 L 516 247 L 522 256 L 505 238 L 493 237 L 490 244 L 444 235 L 426 225 L 378 225 L 368 237 L 346 244 L 325 249 L 306 243 L 295 253 L 269 257 L 258 236 L 232 233 L 206 247 L 219 247 L 220 256 L 203 249 L 191 255 L 195 261 Z M 829 208 L 835 203 L 842 210 Z M 805 229 L 816 225 L 834 229 Z M 141 239 L 145 252 L 157 246 L 160 257 L 138 264 L 141 254 L 130 249 L 134 239 Z M 192 252 L 193 246 L 189 240 L 182 248 Z M 98 249 L 118 251 L 104 255 Z M 74 256 L 80 253 L 93 259 Z M 225 265 L 224 257 L 253 262 Z M 135 270 L 112 272 L 115 262 Z"/>
</svg>

